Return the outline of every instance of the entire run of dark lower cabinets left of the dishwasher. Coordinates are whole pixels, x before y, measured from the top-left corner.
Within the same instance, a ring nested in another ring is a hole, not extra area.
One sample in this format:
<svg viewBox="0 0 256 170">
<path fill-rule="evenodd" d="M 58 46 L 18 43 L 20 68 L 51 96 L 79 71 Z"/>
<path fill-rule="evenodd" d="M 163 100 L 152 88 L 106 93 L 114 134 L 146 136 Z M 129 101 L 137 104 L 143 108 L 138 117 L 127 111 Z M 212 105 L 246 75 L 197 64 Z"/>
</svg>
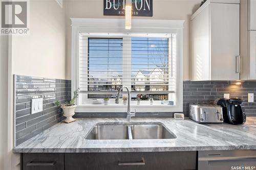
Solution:
<svg viewBox="0 0 256 170">
<path fill-rule="evenodd" d="M 23 170 L 196 169 L 197 152 L 26 153 Z"/>
</svg>

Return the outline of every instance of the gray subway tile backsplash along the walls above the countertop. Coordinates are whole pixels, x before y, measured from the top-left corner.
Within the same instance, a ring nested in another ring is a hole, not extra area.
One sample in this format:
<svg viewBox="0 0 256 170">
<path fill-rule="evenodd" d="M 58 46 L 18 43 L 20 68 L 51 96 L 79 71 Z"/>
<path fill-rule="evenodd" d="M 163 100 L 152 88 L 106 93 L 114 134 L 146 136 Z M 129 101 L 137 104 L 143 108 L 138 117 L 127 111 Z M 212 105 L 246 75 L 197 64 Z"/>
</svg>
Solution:
<svg viewBox="0 0 256 170">
<path fill-rule="evenodd" d="M 245 100 L 243 107 L 248 116 L 256 116 L 256 100 L 248 103 L 248 92 L 256 99 L 256 82 L 231 85 L 229 81 L 183 82 L 183 113 L 188 116 L 189 103 L 213 103 L 229 93 L 231 98 Z M 49 78 L 16 76 L 16 145 L 63 120 L 56 101 L 71 99 L 71 81 Z M 43 98 L 44 110 L 31 114 L 31 99 Z M 76 113 L 74 117 L 125 117 L 126 113 Z M 137 117 L 173 117 L 172 112 L 137 113 Z"/>
</svg>

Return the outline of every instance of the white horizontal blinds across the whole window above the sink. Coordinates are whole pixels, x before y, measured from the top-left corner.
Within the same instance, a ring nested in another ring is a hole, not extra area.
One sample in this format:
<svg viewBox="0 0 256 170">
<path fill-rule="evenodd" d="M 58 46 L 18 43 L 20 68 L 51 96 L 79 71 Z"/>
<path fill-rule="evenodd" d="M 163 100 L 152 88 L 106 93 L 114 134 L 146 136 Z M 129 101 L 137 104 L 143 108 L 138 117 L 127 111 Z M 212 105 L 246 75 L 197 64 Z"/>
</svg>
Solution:
<svg viewBox="0 0 256 170">
<path fill-rule="evenodd" d="M 176 35 L 81 34 L 78 81 L 83 104 L 115 98 L 122 85 L 131 89 L 132 100 L 143 95 L 175 101 Z"/>
</svg>

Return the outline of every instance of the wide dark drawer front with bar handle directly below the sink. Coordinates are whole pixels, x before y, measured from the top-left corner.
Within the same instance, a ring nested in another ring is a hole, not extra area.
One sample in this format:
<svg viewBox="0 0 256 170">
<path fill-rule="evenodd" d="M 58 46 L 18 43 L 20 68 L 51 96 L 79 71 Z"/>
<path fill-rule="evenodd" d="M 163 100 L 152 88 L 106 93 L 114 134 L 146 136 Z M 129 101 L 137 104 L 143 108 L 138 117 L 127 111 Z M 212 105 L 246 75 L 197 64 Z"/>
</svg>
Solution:
<svg viewBox="0 0 256 170">
<path fill-rule="evenodd" d="M 67 153 L 65 170 L 196 169 L 196 152 Z"/>
</svg>

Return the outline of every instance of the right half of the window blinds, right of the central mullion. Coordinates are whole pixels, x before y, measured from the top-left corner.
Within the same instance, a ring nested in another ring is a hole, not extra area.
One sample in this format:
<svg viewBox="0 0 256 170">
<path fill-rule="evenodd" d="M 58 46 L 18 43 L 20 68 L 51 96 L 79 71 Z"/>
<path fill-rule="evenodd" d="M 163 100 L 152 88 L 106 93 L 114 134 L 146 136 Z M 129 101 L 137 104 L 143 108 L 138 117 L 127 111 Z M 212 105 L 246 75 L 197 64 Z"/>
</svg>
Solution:
<svg viewBox="0 0 256 170">
<path fill-rule="evenodd" d="M 175 91 L 172 43 L 172 36 L 132 37 L 132 90 L 143 98 L 168 100 L 168 94 Z"/>
</svg>

